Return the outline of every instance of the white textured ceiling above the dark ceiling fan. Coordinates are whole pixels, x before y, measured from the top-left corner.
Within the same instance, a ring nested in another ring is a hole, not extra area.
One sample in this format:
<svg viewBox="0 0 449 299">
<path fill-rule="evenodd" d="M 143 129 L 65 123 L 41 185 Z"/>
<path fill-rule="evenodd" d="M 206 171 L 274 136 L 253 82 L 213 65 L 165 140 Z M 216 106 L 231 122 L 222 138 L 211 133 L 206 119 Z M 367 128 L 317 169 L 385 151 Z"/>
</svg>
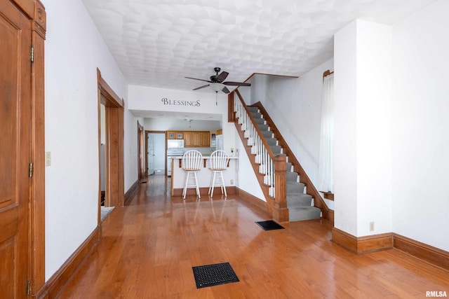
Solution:
<svg viewBox="0 0 449 299">
<path fill-rule="evenodd" d="M 434 0 L 83 0 L 129 84 L 192 90 L 214 67 L 227 81 L 300 76 L 333 57 L 356 18 L 394 24 Z M 199 91 L 208 91 L 204 88 Z"/>
</svg>

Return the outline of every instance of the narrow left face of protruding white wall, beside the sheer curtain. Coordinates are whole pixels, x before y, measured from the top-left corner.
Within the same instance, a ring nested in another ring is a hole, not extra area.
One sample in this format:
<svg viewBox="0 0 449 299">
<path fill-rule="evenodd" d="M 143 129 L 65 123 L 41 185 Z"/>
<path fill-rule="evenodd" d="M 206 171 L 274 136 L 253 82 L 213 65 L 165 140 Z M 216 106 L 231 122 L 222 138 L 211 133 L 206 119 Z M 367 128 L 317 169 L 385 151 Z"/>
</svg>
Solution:
<svg viewBox="0 0 449 299">
<path fill-rule="evenodd" d="M 334 36 L 334 225 L 354 236 L 357 235 L 356 25 L 351 22 Z"/>
</svg>

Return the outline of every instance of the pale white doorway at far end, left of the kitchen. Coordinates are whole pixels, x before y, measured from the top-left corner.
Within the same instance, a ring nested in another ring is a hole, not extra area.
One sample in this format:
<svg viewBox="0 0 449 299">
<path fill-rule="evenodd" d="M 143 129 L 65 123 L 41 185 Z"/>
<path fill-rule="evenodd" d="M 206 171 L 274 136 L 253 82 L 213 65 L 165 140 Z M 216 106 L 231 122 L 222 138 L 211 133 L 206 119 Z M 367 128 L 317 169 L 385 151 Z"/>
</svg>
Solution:
<svg viewBox="0 0 449 299">
<path fill-rule="evenodd" d="M 145 131 L 147 148 L 147 176 L 152 174 L 166 174 L 166 132 Z"/>
</svg>

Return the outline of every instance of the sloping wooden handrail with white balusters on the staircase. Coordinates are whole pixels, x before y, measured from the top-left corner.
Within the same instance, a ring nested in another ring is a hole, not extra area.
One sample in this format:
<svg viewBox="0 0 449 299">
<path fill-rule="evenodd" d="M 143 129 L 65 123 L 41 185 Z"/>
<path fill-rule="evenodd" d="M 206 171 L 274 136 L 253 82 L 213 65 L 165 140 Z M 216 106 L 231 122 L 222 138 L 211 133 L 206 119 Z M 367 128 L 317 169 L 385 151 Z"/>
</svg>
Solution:
<svg viewBox="0 0 449 299">
<path fill-rule="evenodd" d="M 235 92 L 240 99 L 240 101 L 234 101 L 235 117 L 238 118 L 241 125 L 244 125 L 243 129 L 245 130 L 246 137 L 252 146 L 251 153 L 256 155 L 256 162 L 261 166 L 259 173 L 265 175 L 264 183 L 269 186 L 269 195 L 275 197 L 274 158 L 276 155 L 273 153 L 272 148 L 269 147 L 269 144 L 267 144 L 267 141 L 261 138 L 261 136 L 263 137 L 262 131 L 255 125 L 255 118 L 250 113 L 239 90 L 235 90 Z M 237 113 L 241 112 L 243 112 L 243 115 L 237 115 Z M 256 153 L 253 152 L 253 149 Z M 259 151 L 262 151 L 262 153 Z M 263 151 L 266 153 L 263 153 Z"/>
</svg>

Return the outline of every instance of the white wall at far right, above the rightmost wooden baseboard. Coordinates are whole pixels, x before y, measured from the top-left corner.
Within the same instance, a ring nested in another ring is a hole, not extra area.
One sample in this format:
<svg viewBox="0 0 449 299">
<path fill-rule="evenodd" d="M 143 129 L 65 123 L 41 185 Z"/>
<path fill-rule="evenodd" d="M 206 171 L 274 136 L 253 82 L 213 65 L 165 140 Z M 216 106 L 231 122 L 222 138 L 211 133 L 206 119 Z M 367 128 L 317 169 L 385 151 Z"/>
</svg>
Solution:
<svg viewBox="0 0 449 299">
<path fill-rule="evenodd" d="M 449 251 L 449 2 L 394 26 L 393 227 Z"/>
</svg>

